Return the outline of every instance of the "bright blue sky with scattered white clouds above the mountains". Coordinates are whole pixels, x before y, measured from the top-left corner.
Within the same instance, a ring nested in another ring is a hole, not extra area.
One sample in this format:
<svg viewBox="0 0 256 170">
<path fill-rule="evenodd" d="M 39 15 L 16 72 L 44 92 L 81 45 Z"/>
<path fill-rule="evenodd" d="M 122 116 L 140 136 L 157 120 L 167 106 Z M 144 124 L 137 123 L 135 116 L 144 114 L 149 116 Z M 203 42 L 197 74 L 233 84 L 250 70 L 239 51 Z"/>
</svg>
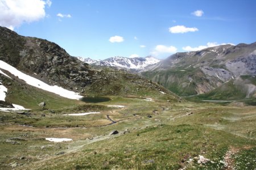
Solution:
<svg viewBox="0 0 256 170">
<path fill-rule="evenodd" d="M 71 56 L 167 58 L 256 41 L 255 0 L 0 0 L 0 25 Z"/>
</svg>

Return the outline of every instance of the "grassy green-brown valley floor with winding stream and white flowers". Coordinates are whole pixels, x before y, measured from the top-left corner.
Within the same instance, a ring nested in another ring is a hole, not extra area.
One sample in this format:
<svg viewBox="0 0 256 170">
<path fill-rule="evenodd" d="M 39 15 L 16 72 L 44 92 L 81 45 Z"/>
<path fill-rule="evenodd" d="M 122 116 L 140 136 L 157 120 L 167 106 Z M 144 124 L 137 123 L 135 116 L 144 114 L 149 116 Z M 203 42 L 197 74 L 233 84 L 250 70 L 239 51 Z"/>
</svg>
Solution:
<svg viewBox="0 0 256 170">
<path fill-rule="evenodd" d="M 256 168 L 256 107 L 109 97 L 56 113 L 0 112 L 0 169 Z M 64 115 L 85 112 L 94 113 Z"/>
</svg>

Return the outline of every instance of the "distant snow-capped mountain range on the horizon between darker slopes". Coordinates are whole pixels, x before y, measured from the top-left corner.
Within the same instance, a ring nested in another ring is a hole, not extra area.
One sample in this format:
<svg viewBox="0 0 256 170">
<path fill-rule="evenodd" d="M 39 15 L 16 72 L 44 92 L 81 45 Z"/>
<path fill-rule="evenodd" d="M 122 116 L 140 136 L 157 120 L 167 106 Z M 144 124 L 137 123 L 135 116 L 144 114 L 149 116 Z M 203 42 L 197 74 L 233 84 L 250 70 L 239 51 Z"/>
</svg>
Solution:
<svg viewBox="0 0 256 170">
<path fill-rule="evenodd" d="M 104 60 L 93 60 L 90 58 L 81 58 L 78 57 L 81 61 L 95 65 L 95 66 L 110 66 L 110 67 L 118 67 L 122 69 L 129 69 L 129 70 L 142 70 L 148 65 L 154 65 L 158 63 L 160 60 L 156 59 L 152 56 L 147 57 L 134 57 L 134 58 L 127 58 L 127 57 L 111 57 Z"/>
</svg>

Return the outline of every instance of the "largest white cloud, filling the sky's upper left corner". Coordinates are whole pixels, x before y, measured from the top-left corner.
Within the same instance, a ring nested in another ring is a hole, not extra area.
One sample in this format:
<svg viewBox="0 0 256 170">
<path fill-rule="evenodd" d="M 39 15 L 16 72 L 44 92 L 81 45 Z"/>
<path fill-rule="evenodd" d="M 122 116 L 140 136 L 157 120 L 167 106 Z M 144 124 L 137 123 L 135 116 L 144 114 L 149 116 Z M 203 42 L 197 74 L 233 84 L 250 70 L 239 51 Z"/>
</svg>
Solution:
<svg viewBox="0 0 256 170">
<path fill-rule="evenodd" d="M 0 25 L 10 29 L 23 23 L 38 21 L 46 16 L 44 8 L 51 6 L 51 1 L 43 0 L 1 0 Z"/>
</svg>

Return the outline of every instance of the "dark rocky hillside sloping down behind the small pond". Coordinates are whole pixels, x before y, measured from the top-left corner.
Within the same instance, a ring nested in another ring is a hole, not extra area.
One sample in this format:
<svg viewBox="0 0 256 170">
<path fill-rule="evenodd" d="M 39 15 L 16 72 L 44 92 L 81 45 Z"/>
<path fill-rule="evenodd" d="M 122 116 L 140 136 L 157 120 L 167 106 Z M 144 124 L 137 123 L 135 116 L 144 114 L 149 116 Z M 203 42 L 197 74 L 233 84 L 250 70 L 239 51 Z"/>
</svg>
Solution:
<svg viewBox="0 0 256 170">
<path fill-rule="evenodd" d="M 147 95 L 148 92 L 160 94 L 159 91 L 170 94 L 138 75 L 92 69 L 53 42 L 23 37 L 5 27 L 0 27 L 0 60 L 49 85 L 82 95 Z M 13 76 L 9 70 L 0 70 Z M 6 85 L 6 77 L 1 79 Z"/>
</svg>

